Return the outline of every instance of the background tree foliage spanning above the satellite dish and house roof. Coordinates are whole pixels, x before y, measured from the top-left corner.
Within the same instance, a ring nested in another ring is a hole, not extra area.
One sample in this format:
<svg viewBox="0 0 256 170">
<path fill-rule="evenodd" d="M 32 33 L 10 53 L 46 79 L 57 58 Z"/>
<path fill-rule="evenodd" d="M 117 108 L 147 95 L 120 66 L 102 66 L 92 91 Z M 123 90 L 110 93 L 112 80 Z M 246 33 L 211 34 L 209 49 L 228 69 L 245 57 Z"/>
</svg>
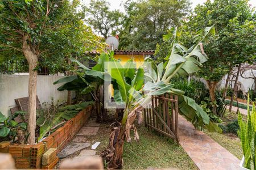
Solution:
<svg viewBox="0 0 256 170">
<path fill-rule="evenodd" d="M 85 7 L 86 22 L 105 38 L 119 34 L 119 49 L 152 50 L 162 43 L 171 27 L 180 25 L 188 14 L 188 0 L 125 1 L 125 14 L 111 10 L 105 0 L 91 0 Z"/>
</svg>

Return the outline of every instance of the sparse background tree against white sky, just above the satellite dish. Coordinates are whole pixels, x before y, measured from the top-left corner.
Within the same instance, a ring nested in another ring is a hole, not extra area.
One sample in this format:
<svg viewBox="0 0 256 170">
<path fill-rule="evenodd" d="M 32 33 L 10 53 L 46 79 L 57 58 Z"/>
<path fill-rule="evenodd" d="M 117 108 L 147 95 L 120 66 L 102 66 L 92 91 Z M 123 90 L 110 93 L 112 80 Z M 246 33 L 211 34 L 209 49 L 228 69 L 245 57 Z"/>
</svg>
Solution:
<svg viewBox="0 0 256 170">
<path fill-rule="evenodd" d="M 110 3 L 105 0 L 91 0 L 88 7 L 84 7 L 85 21 L 98 31 L 105 39 L 118 32 L 122 23 L 122 12 L 111 10 Z"/>
</svg>

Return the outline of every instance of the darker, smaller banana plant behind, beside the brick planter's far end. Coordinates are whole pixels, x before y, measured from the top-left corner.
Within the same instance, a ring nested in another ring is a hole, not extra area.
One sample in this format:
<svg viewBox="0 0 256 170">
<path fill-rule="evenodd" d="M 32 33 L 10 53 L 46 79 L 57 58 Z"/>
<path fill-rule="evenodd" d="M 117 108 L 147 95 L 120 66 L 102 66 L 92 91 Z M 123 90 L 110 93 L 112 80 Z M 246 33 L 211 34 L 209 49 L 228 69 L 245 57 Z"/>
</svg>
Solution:
<svg viewBox="0 0 256 170">
<path fill-rule="evenodd" d="M 77 71 L 77 75 L 66 76 L 54 82 L 53 84 L 64 83 L 57 88 L 59 91 L 79 91 L 81 94 L 92 94 L 93 99 L 96 101 L 97 120 L 105 120 L 106 113 L 104 109 L 104 63 L 109 61 L 109 58 L 113 58 L 114 52 L 102 53 L 97 64 L 89 69 L 82 65 L 81 62 L 76 59 L 71 59 L 72 62 L 76 62 L 84 71 Z"/>
</svg>

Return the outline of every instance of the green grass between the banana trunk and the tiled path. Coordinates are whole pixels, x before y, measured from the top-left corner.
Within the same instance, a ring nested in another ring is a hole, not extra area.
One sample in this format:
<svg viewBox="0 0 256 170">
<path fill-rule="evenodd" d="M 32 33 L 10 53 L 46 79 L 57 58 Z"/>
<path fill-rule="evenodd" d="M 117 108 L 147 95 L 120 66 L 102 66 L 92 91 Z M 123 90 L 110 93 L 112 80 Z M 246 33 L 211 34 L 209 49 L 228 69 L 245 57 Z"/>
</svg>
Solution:
<svg viewBox="0 0 256 170">
<path fill-rule="evenodd" d="M 197 169 L 181 146 L 168 138 L 138 128 L 140 141 L 125 143 L 124 169 L 179 168 Z"/>
</svg>

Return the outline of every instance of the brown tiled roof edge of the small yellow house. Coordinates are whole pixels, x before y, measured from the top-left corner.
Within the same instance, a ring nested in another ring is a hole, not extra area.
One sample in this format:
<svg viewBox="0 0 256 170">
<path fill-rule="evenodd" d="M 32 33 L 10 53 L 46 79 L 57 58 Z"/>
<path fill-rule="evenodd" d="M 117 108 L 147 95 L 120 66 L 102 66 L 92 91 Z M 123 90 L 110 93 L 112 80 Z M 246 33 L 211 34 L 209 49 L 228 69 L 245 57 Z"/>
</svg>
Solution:
<svg viewBox="0 0 256 170">
<path fill-rule="evenodd" d="M 100 54 L 96 50 L 87 52 L 87 54 Z M 116 55 L 154 55 L 155 50 L 114 50 Z"/>
</svg>

